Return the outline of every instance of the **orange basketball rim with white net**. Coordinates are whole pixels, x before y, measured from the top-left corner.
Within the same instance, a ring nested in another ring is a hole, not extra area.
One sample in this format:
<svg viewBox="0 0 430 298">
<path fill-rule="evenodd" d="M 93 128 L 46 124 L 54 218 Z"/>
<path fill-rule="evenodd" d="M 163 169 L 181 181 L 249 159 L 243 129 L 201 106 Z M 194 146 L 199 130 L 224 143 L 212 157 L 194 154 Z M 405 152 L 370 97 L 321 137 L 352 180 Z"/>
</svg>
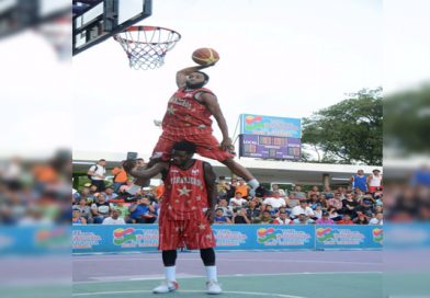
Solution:
<svg viewBox="0 0 430 298">
<path fill-rule="evenodd" d="M 181 34 L 163 27 L 131 26 L 113 38 L 127 54 L 131 68 L 146 70 L 165 64 L 167 51 L 181 39 Z"/>
</svg>

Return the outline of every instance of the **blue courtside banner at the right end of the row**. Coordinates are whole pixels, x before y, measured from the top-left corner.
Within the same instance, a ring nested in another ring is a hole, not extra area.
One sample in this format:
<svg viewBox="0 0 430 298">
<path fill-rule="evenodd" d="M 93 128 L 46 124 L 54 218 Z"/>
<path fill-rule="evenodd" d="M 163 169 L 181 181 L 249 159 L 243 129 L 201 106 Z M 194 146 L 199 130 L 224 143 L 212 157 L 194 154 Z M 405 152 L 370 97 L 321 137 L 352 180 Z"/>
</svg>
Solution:
<svg viewBox="0 0 430 298">
<path fill-rule="evenodd" d="M 316 226 L 316 249 L 382 249 L 382 226 Z"/>
</svg>

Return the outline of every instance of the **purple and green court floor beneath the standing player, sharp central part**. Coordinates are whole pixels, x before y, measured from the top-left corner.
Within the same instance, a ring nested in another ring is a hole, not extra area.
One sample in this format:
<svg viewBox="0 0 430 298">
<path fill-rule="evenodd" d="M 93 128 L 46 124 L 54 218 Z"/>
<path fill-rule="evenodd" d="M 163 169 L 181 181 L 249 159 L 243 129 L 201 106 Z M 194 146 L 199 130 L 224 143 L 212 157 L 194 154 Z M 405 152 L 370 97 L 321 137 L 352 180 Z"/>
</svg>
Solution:
<svg viewBox="0 0 430 298">
<path fill-rule="evenodd" d="M 382 297 L 382 251 L 217 252 L 222 297 Z M 154 297 L 163 279 L 161 255 L 75 255 L 73 297 Z M 199 252 L 179 253 L 180 289 L 168 297 L 204 297 Z"/>
</svg>

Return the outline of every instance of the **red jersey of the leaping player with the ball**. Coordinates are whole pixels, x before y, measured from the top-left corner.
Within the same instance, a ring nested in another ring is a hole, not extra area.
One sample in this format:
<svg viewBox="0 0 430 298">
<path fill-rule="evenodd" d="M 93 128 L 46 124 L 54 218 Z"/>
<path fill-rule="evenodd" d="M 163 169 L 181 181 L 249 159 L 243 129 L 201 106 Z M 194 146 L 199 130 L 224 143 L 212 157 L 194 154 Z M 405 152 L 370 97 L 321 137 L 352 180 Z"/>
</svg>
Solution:
<svg viewBox="0 0 430 298">
<path fill-rule="evenodd" d="M 172 134 L 197 135 L 202 131 L 212 131 L 211 112 L 195 99 L 197 93 L 211 93 L 211 90 L 199 88 L 186 90 L 180 88 L 170 98 L 167 112 L 162 119 L 162 129 Z"/>
</svg>

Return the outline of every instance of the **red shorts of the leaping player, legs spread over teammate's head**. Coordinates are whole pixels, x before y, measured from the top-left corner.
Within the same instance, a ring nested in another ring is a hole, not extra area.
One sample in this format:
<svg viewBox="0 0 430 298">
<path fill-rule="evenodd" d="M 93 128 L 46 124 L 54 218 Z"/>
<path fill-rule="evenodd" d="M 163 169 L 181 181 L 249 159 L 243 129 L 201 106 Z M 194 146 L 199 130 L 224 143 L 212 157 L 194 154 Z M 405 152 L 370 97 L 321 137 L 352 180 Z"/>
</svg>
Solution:
<svg viewBox="0 0 430 298">
<path fill-rule="evenodd" d="M 174 135 L 163 131 L 154 148 L 152 158 L 161 158 L 165 161 L 170 160 L 173 144 L 181 140 L 195 144 L 197 147 L 196 152 L 205 158 L 225 161 L 235 157 L 219 147 L 218 140 L 212 133 L 202 131 L 200 135 Z"/>
</svg>

